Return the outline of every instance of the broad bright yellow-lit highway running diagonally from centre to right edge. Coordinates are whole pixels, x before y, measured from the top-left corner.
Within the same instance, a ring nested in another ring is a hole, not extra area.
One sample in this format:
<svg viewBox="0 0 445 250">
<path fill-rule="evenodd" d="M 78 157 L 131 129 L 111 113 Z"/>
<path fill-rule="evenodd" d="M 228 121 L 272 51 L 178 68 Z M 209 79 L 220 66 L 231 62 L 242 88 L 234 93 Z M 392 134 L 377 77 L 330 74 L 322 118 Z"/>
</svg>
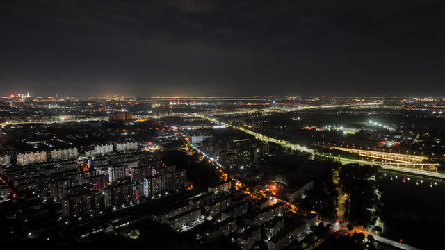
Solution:
<svg viewBox="0 0 445 250">
<path fill-rule="evenodd" d="M 314 155 L 325 156 L 322 153 L 317 153 L 316 151 L 314 151 L 314 149 L 307 149 L 307 147 L 300 146 L 298 144 L 293 144 L 291 142 L 287 142 L 286 140 L 279 140 L 279 139 L 271 138 L 269 136 L 253 132 L 248 129 L 242 128 L 242 127 L 234 126 L 234 125 L 228 124 L 226 122 L 220 122 L 218 119 L 216 119 L 214 117 L 209 117 L 207 115 L 200 115 L 199 117 L 201 117 L 202 119 L 207 119 L 211 122 L 215 122 L 217 124 L 221 124 L 221 125 L 225 125 L 227 127 L 232 127 L 232 128 L 238 129 L 238 130 L 248 133 L 250 135 L 254 135 L 255 138 L 257 138 L 258 140 L 262 140 L 264 142 L 274 142 L 274 143 L 280 144 L 282 147 L 286 147 L 288 149 L 311 153 L 313 156 Z M 417 174 L 417 175 L 427 176 L 427 177 L 432 177 L 432 178 L 445 179 L 445 174 L 442 174 L 442 173 L 429 172 L 429 171 L 420 170 L 420 169 L 410 169 L 407 167 L 396 167 L 396 166 L 391 166 L 391 165 L 385 165 L 385 163 L 374 163 L 372 161 L 366 161 L 366 160 L 353 160 L 353 159 L 342 158 L 342 157 L 333 157 L 333 158 L 339 160 L 343 164 L 362 163 L 362 164 L 369 164 L 369 165 L 380 165 L 380 166 L 382 166 L 383 169 L 388 169 L 388 170 L 393 170 L 393 171 L 398 171 L 398 172 L 405 172 L 405 173 L 410 173 L 410 174 Z"/>
</svg>

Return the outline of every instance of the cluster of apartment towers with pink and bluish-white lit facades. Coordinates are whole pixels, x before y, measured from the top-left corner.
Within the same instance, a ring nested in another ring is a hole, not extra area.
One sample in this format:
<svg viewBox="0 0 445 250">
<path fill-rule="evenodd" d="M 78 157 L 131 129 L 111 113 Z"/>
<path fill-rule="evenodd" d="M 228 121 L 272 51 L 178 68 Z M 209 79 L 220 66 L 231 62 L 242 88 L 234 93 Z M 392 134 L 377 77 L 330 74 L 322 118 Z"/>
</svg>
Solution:
<svg viewBox="0 0 445 250">
<path fill-rule="evenodd" d="M 132 205 L 138 199 L 154 199 L 184 190 L 186 170 L 177 170 L 175 165 L 167 167 L 152 160 L 145 154 L 139 154 L 131 161 L 119 162 L 111 167 L 93 162 L 95 174 L 88 178 L 88 189 L 79 195 L 88 196 L 89 200 L 85 201 L 88 204 L 101 201 L 100 205 L 91 206 L 92 208 L 116 210 Z M 98 196 L 101 198 L 97 199 Z M 68 199 L 68 207 L 74 206 L 76 201 L 73 199 L 76 197 L 77 195 L 64 199 Z M 97 212 L 99 210 L 88 211 L 92 215 Z M 72 218 L 77 214 L 79 213 L 63 213 L 63 217 Z"/>
</svg>

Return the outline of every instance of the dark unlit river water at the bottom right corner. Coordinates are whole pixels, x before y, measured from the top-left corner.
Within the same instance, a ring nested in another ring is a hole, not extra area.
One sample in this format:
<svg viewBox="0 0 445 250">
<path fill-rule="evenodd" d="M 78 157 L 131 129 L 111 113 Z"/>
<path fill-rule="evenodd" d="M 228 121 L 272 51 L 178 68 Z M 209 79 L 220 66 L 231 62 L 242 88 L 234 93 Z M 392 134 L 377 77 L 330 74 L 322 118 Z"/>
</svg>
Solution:
<svg viewBox="0 0 445 250">
<path fill-rule="evenodd" d="M 405 177 L 404 182 L 394 174 L 382 179 L 383 236 L 424 250 L 444 249 L 445 183 L 431 187 L 427 179 L 417 180 Z"/>
</svg>

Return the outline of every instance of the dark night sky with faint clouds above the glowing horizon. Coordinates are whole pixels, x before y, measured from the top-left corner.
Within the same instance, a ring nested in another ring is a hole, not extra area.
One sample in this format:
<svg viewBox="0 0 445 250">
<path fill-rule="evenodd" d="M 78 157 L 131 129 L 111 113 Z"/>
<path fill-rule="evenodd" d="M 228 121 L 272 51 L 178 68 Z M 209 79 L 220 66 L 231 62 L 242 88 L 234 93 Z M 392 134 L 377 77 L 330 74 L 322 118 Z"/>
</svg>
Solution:
<svg viewBox="0 0 445 250">
<path fill-rule="evenodd" d="M 445 1 L 0 0 L 0 95 L 443 95 Z"/>
</svg>

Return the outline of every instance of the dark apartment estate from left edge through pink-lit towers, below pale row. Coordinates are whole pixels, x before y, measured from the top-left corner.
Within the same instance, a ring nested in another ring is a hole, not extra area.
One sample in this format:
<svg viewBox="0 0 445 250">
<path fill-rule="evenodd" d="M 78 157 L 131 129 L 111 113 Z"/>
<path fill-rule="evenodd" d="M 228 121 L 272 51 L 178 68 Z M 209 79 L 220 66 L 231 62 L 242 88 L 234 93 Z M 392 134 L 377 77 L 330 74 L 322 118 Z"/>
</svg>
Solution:
<svg viewBox="0 0 445 250">
<path fill-rule="evenodd" d="M 184 190 L 186 171 L 166 166 L 147 152 L 123 152 L 33 163 L 3 165 L 0 174 L 19 194 L 34 192 L 61 203 L 62 217 L 77 219 Z M 10 194 L 5 184 L 1 197 Z M 3 194 L 4 191 L 4 194 Z"/>
</svg>

